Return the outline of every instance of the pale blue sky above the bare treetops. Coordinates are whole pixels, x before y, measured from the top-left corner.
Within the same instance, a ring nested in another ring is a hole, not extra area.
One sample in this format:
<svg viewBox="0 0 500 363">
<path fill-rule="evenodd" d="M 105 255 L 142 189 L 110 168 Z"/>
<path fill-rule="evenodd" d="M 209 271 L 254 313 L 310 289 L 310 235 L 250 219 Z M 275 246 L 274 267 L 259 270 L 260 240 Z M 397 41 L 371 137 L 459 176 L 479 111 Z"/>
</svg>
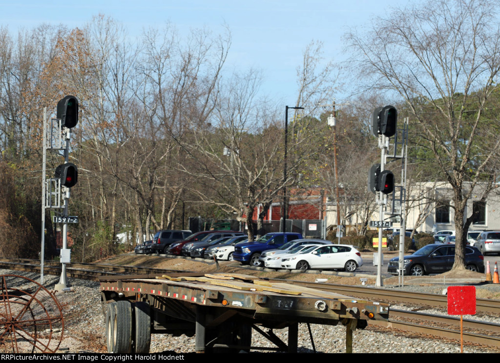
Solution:
<svg viewBox="0 0 500 363">
<path fill-rule="evenodd" d="M 413 0 L 411 2 L 419 2 Z M 262 92 L 277 102 L 296 99 L 296 67 L 311 40 L 324 44 L 324 57 L 343 60 L 342 34 L 369 24 L 373 16 L 390 16 L 391 6 L 407 0 L 0 0 L 0 25 L 11 32 L 41 23 L 82 27 L 93 15 L 111 16 L 130 36 L 149 26 L 161 28 L 167 21 L 180 33 L 206 26 L 214 32 L 227 24 L 232 45 L 227 66 L 253 67 L 263 75 Z M 346 94 L 339 95 L 341 100 Z"/>
</svg>

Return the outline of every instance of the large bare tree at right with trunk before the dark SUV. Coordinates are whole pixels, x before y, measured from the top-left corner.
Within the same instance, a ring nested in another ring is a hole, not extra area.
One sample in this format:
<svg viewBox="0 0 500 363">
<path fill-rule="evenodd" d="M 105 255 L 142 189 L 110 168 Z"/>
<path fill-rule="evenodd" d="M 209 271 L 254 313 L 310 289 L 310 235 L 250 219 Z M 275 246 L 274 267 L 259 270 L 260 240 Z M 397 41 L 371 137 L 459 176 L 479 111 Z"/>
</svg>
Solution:
<svg viewBox="0 0 500 363">
<path fill-rule="evenodd" d="M 467 201 L 475 192 L 484 200 L 495 179 L 490 171 L 500 139 L 488 129 L 497 128 L 499 120 L 487 106 L 500 70 L 497 5 L 429 1 L 394 9 L 363 35 L 347 35 L 362 79 L 401 100 L 403 112 L 418 125 L 420 146 L 431 153 L 452 190 L 453 269 L 465 268 L 466 230 L 473 217 L 465 216 Z"/>
</svg>

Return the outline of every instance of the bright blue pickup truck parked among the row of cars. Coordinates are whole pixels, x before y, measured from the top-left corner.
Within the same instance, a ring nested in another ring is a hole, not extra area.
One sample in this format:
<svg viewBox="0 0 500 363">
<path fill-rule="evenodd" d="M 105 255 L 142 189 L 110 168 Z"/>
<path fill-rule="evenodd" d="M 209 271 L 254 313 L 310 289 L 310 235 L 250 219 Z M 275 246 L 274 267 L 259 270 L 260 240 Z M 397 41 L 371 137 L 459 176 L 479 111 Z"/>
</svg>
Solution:
<svg viewBox="0 0 500 363">
<path fill-rule="evenodd" d="M 247 242 L 234 246 L 232 255 L 234 261 L 239 261 L 242 264 L 251 264 L 253 266 L 262 266 L 262 261 L 259 261 L 259 256 L 262 252 L 271 248 L 278 248 L 285 243 L 293 240 L 301 239 L 300 233 L 293 232 L 273 232 L 267 233 L 254 242 Z"/>
</svg>

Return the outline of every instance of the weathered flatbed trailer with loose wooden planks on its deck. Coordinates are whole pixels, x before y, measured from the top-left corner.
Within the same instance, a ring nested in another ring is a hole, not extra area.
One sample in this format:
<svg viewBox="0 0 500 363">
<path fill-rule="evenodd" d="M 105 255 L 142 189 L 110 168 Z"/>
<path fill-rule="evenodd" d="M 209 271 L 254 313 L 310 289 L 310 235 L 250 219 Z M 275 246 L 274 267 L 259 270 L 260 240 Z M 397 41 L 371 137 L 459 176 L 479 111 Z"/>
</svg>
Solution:
<svg viewBox="0 0 500 363">
<path fill-rule="evenodd" d="M 387 304 L 239 274 L 176 273 L 100 278 L 107 350 L 149 353 L 151 334 L 194 336 L 197 353 L 297 352 L 298 324 L 346 326 L 387 321 Z M 252 347 L 252 329 L 275 348 Z M 287 342 L 275 329 L 288 329 Z M 311 337 L 312 339 L 312 337 Z"/>
</svg>

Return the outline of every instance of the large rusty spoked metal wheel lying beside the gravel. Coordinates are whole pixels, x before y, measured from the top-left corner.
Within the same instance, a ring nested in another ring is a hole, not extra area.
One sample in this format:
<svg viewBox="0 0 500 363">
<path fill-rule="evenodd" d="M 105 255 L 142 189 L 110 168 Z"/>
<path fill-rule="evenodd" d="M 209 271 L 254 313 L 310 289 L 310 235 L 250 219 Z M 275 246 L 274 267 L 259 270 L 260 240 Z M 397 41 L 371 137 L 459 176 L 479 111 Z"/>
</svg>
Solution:
<svg viewBox="0 0 500 363">
<path fill-rule="evenodd" d="M 54 353 L 63 332 L 53 292 L 23 276 L 0 275 L 0 352 Z"/>
</svg>

